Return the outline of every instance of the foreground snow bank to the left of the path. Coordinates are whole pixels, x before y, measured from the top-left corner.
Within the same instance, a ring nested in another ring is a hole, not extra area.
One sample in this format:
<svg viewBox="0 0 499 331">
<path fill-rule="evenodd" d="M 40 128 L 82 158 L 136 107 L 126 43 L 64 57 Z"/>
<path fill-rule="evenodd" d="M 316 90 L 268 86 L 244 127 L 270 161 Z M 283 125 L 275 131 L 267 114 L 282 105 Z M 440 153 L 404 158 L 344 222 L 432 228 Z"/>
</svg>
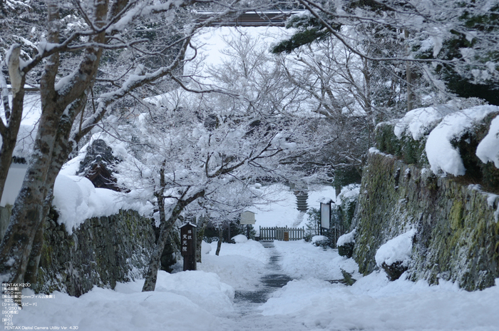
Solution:
<svg viewBox="0 0 499 331">
<path fill-rule="evenodd" d="M 26 289 L 23 300 L 28 309 L 15 315 L 15 325 L 26 330 L 31 325 L 56 329 L 56 324 L 83 331 L 220 330 L 215 314 L 233 311 L 234 290 L 212 273 L 160 271 L 155 291 L 141 292 L 143 284 L 144 280 L 118 283 L 115 290 L 96 286 L 81 297 L 53 292 L 51 299 L 37 299 Z"/>
</svg>

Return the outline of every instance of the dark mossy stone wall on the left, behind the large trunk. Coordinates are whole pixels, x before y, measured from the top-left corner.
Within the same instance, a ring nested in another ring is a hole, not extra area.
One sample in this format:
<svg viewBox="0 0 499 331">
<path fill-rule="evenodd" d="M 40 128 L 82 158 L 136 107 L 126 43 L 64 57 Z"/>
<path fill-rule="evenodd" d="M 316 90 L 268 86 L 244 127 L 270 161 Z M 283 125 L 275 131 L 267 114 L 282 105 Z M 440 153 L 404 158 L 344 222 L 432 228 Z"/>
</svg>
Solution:
<svg viewBox="0 0 499 331">
<path fill-rule="evenodd" d="M 79 296 L 143 277 L 155 245 L 153 223 L 132 210 L 91 218 L 68 235 L 51 213 L 38 268 L 37 292 Z"/>
</svg>

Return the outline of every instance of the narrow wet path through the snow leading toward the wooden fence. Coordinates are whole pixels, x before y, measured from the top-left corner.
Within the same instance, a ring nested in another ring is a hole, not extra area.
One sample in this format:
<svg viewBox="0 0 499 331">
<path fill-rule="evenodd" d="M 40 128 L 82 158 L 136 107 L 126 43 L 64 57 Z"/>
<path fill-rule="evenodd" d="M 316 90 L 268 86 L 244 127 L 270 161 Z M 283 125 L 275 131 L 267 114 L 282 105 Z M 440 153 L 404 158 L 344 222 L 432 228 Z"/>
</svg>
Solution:
<svg viewBox="0 0 499 331">
<path fill-rule="evenodd" d="M 253 291 L 236 291 L 234 298 L 235 313 L 227 316 L 227 323 L 222 327 L 224 331 L 269 330 L 269 331 L 302 331 L 310 330 L 293 317 L 264 316 L 257 308 L 267 302 L 272 292 L 284 287 L 292 278 L 282 272 L 279 261 L 282 256 L 274 246 L 265 245 L 270 253 L 270 260 L 266 266 L 267 273 L 261 278 L 261 283 Z"/>
</svg>

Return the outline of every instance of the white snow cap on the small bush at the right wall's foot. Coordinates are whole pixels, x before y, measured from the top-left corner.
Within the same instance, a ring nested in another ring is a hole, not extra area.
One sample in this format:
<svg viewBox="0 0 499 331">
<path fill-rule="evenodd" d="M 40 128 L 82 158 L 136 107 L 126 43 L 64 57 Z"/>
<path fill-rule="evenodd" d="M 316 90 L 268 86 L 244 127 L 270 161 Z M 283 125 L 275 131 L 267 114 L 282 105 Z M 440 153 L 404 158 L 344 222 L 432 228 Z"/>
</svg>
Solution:
<svg viewBox="0 0 499 331">
<path fill-rule="evenodd" d="M 409 260 L 411 260 L 412 253 L 412 238 L 416 234 L 416 230 L 412 229 L 402 235 L 388 240 L 384 245 L 376 251 L 376 265 L 380 266 L 383 263 L 392 265 L 397 261 L 401 261 L 402 265 L 406 267 Z"/>
</svg>

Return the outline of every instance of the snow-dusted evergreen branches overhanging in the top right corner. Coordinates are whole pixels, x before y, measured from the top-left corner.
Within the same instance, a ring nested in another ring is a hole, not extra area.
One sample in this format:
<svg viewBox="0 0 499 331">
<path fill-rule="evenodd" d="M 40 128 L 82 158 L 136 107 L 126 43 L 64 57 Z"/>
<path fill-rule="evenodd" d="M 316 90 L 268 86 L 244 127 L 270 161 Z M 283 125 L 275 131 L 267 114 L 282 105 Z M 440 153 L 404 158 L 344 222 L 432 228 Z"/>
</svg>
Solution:
<svg viewBox="0 0 499 331">
<path fill-rule="evenodd" d="M 446 92 L 447 85 L 448 90 L 461 93 L 464 83 L 469 83 L 468 95 L 463 96 L 478 96 L 470 93 L 470 88 L 477 93 L 485 90 L 479 97 L 487 96 L 489 102 L 497 102 L 496 93 L 491 92 L 497 89 L 499 81 L 497 1 L 299 0 L 299 3 L 312 15 L 314 29 L 310 30 L 314 33 L 304 34 L 288 46 L 307 44 L 322 34 L 330 34 L 369 61 L 408 63 L 408 88 L 415 87 L 411 78 L 417 71 L 441 92 Z M 405 54 L 393 54 L 383 47 L 381 53 L 370 54 L 357 46 L 397 40 L 406 45 Z"/>
</svg>

